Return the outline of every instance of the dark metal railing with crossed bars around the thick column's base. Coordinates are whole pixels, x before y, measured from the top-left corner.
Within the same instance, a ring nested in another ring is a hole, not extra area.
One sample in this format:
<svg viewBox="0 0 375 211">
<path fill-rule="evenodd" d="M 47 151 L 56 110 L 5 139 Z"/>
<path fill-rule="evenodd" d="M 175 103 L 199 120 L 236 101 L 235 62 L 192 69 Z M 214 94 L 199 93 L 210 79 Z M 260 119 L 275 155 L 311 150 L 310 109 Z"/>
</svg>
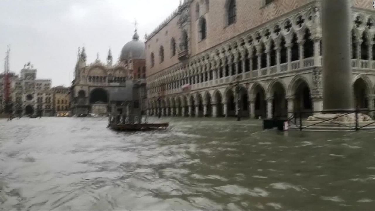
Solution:
<svg viewBox="0 0 375 211">
<path fill-rule="evenodd" d="M 359 130 L 372 130 L 372 129 L 374 129 L 374 128 L 369 128 L 367 126 L 375 124 L 375 120 L 370 119 L 368 122 L 367 121 L 365 122 L 366 123 L 365 125 L 360 125 L 359 124 L 359 122 L 360 122 L 359 121 L 359 118 L 360 118 L 359 114 L 362 113 L 362 114 L 370 116 L 370 118 L 373 118 L 375 110 L 366 110 L 366 109 L 364 109 L 364 110 L 354 110 L 352 112 L 342 113 L 341 115 L 338 115 L 338 116 L 335 116 L 335 117 L 332 117 L 332 118 L 329 118 L 329 119 L 320 119 L 320 121 L 318 120 L 319 122 L 314 121 L 314 123 L 308 124 L 307 123 L 308 120 L 307 120 L 307 118 L 304 118 L 304 116 L 305 116 L 304 114 L 313 115 L 315 113 L 322 113 L 322 112 L 312 112 L 312 111 L 287 112 L 287 115 L 288 115 L 287 121 L 290 125 L 295 125 L 296 128 L 298 128 L 300 131 L 302 131 L 304 129 L 307 129 L 307 128 L 312 129 L 313 126 L 316 126 L 316 125 L 318 126 L 319 124 L 322 124 L 324 122 L 329 122 L 330 124 L 336 125 L 336 127 L 330 127 L 329 128 L 330 130 L 355 130 L 355 131 L 359 131 Z M 343 122 L 335 121 L 338 118 L 342 118 L 343 116 L 353 114 L 353 113 L 354 113 L 354 122 L 349 122 L 349 123 L 351 123 L 349 125 L 344 124 Z M 318 117 L 315 117 L 315 118 L 318 118 Z M 374 125 L 374 127 L 375 127 L 375 125 Z"/>
</svg>

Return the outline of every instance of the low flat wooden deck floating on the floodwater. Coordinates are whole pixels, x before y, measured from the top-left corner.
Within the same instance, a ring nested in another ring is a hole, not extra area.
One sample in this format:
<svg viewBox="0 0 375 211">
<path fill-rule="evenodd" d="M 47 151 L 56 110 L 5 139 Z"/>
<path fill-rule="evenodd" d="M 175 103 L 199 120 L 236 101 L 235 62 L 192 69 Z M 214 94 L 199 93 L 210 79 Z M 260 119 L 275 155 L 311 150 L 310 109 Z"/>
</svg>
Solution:
<svg viewBox="0 0 375 211">
<path fill-rule="evenodd" d="M 151 131 L 166 130 L 169 123 L 141 123 L 141 124 L 110 124 L 110 127 L 116 131 Z"/>
</svg>

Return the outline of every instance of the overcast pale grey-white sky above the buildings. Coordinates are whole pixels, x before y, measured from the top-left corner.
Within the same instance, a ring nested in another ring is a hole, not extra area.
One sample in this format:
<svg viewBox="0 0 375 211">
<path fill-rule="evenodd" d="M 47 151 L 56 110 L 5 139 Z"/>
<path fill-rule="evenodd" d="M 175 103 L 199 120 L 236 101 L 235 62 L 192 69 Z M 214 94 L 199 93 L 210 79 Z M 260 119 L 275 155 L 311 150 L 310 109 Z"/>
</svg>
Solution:
<svg viewBox="0 0 375 211">
<path fill-rule="evenodd" d="M 10 71 L 17 74 L 30 61 L 38 78 L 51 78 L 52 86 L 69 86 L 78 47 L 85 45 L 88 63 L 106 60 L 111 47 L 117 61 L 123 45 L 132 39 L 134 20 L 138 34 L 154 30 L 177 8 L 179 0 L 0 0 L 1 69 L 10 44 Z"/>
</svg>

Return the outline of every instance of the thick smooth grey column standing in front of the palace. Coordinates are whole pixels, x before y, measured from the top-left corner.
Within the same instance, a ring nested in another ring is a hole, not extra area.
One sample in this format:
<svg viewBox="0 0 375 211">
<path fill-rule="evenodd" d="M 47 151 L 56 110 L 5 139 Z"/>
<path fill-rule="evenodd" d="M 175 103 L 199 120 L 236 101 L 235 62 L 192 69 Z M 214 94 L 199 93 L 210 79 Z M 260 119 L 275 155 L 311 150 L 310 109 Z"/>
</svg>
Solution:
<svg viewBox="0 0 375 211">
<path fill-rule="evenodd" d="M 350 112 L 354 110 L 350 59 L 351 1 L 329 0 L 322 1 L 321 5 L 323 112 Z"/>
</svg>

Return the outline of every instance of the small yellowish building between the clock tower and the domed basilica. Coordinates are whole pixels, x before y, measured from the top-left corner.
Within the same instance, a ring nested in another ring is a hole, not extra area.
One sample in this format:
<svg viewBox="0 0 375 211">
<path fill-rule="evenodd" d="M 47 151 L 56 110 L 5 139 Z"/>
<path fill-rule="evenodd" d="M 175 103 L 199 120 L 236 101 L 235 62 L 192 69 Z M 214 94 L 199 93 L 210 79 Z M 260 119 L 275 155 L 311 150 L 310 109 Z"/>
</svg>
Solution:
<svg viewBox="0 0 375 211">
<path fill-rule="evenodd" d="M 53 111 L 54 115 L 65 116 L 70 109 L 69 90 L 71 87 L 55 86 L 53 92 Z"/>
</svg>

